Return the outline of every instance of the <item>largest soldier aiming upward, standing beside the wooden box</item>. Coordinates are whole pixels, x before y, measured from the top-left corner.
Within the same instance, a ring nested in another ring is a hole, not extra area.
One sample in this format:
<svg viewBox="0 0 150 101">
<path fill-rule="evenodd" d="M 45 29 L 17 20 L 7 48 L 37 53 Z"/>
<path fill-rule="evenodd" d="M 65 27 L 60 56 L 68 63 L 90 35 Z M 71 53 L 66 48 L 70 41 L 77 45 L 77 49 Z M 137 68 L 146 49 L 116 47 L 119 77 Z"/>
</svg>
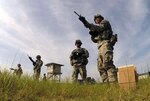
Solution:
<svg viewBox="0 0 150 101">
<path fill-rule="evenodd" d="M 113 35 L 109 21 L 100 14 L 94 16 L 96 25 L 88 23 L 83 16 L 80 16 L 79 20 L 89 28 L 91 40 L 98 45 L 97 66 L 102 81 L 117 81 L 116 67 L 113 64 L 113 46 L 117 42 L 117 35 Z"/>
</svg>

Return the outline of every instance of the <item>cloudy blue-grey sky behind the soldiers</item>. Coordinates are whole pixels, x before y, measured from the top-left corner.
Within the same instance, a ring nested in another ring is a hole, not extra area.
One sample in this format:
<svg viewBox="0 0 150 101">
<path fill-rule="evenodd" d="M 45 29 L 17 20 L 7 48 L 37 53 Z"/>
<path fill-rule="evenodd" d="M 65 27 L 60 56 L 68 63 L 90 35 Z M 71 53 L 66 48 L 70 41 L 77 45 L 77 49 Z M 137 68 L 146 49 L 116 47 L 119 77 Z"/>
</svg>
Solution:
<svg viewBox="0 0 150 101">
<path fill-rule="evenodd" d="M 47 63 L 60 63 L 62 78 L 71 78 L 69 56 L 75 40 L 89 51 L 87 76 L 100 79 L 97 70 L 97 44 L 74 11 L 94 23 L 101 14 L 112 26 L 118 42 L 114 46 L 114 64 L 118 68 L 134 64 L 138 73 L 150 69 L 149 0 L 0 0 L 0 68 L 21 63 L 24 73 L 33 74 L 27 55 L 41 55 Z"/>
</svg>

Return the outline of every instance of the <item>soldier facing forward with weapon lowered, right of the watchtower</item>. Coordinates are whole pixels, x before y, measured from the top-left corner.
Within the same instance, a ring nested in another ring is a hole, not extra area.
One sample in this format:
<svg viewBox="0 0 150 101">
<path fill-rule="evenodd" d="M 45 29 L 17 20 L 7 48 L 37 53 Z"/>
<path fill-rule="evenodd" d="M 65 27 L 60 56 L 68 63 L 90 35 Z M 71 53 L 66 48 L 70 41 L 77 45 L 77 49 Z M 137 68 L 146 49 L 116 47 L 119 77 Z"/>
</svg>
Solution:
<svg viewBox="0 0 150 101">
<path fill-rule="evenodd" d="M 82 80 L 86 80 L 86 65 L 88 63 L 89 52 L 85 48 L 81 48 L 82 42 L 76 40 L 76 49 L 71 52 L 70 63 L 73 66 L 72 80 L 77 81 L 80 73 Z"/>
</svg>

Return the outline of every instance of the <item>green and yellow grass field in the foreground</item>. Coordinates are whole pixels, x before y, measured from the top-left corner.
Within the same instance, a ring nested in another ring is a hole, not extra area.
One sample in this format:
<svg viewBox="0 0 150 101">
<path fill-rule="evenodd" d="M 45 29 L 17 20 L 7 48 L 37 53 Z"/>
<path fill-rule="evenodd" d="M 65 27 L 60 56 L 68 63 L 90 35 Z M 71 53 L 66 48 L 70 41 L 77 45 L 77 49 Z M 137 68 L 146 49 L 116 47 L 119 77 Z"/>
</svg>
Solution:
<svg viewBox="0 0 150 101">
<path fill-rule="evenodd" d="M 121 90 L 118 84 L 72 84 L 34 81 L 0 74 L 0 101 L 150 101 L 150 78 L 140 80 L 135 90 Z"/>
</svg>

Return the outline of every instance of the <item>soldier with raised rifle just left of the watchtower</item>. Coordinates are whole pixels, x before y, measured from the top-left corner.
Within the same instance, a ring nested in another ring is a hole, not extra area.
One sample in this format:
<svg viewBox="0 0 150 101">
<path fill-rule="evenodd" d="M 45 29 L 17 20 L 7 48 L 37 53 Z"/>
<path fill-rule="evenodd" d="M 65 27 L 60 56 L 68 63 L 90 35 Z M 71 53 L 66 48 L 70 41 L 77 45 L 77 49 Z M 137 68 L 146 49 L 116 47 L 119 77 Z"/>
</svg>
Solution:
<svg viewBox="0 0 150 101">
<path fill-rule="evenodd" d="M 34 70 L 34 79 L 39 80 L 40 73 L 41 73 L 41 67 L 43 65 L 43 61 L 41 60 L 41 56 L 37 55 L 36 56 L 36 61 L 32 59 L 32 57 L 29 56 L 29 59 L 33 63 L 33 70 Z"/>
</svg>

